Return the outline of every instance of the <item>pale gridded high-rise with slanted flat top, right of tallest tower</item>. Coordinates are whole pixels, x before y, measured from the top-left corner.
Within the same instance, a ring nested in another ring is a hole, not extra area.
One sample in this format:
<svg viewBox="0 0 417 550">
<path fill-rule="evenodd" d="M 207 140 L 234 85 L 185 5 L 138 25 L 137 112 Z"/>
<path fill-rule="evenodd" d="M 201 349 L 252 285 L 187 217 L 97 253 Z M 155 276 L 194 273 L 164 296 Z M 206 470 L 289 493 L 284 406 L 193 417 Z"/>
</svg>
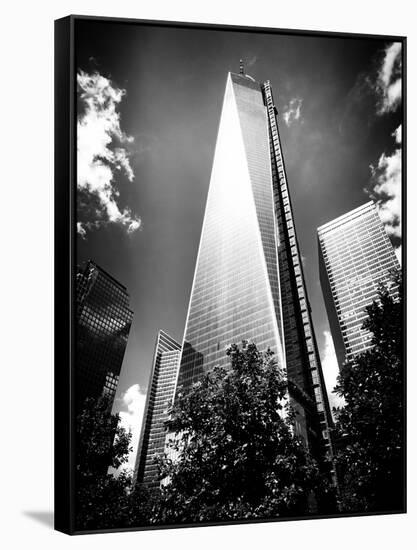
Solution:
<svg viewBox="0 0 417 550">
<path fill-rule="evenodd" d="M 372 334 L 362 329 L 366 306 L 380 283 L 393 296 L 400 269 L 394 248 L 370 201 L 317 229 L 320 283 L 339 368 L 371 347 Z"/>
</svg>

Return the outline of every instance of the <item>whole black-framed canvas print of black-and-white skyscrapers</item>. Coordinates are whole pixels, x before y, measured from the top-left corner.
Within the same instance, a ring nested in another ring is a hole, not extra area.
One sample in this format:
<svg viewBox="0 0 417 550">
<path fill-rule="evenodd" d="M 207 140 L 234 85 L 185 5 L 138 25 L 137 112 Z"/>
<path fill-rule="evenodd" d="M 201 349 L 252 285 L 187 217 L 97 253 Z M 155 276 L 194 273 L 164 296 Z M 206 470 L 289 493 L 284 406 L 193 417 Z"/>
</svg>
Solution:
<svg viewBox="0 0 417 550">
<path fill-rule="evenodd" d="M 55 527 L 406 511 L 406 39 L 55 22 Z"/>
</svg>

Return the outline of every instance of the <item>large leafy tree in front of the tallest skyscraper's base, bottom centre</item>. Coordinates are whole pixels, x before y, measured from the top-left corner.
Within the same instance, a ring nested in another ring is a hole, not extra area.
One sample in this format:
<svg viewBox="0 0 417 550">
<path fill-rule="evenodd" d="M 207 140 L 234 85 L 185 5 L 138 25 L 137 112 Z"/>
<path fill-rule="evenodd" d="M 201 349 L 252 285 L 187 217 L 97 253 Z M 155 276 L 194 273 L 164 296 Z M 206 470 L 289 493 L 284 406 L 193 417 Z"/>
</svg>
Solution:
<svg viewBox="0 0 417 550">
<path fill-rule="evenodd" d="M 161 460 L 155 523 L 305 515 L 323 480 L 284 405 L 285 378 L 272 352 L 233 344 L 216 367 L 180 394 L 175 434 Z"/>
</svg>

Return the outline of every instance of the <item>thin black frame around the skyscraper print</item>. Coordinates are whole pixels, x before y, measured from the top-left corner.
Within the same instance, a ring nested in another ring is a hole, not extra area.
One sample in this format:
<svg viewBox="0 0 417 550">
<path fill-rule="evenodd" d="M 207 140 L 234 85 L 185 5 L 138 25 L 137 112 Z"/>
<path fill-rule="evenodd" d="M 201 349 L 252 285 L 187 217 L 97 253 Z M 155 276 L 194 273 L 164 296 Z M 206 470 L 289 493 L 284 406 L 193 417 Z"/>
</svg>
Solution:
<svg viewBox="0 0 417 550">
<path fill-rule="evenodd" d="M 74 311 L 75 311 L 75 274 L 76 274 L 76 61 L 75 26 L 77 22 L 119 23 L 121 25 L 142 25 L 147 27 L 187 28 L 202 30 L 216 29 L 224 32 L 281 34 L 291 36 L 340 37 L 360 39 L 384 39 L 402 44 L 403 76 L 403 141 L 402 141 L 402 275 L 406 288 L 407 274 L 407 219 L 406 219 L 406 61 L 407 38 L 404 36 L 386 36 L 373 34 L 338 33 L 328 31 L 290 30 L 276 28 L 242 27 L 233 25 L 213 25 L 183 22 L 150 21 L 140 19 L 93 17 L 70 15 L 55 21 L 55 529 L 64 533 L 88 534 L 113 531 L 134 531 L 176 527 L 196 527 L 196 524 L 140 526 L 124 529 L 97 529 L 77 531 L 74 513 Z M 406 302 L 405 302 L 406 304 Z M 403 363 L 406 372 L 406 305 L 403 310 Z M 406 383 L 404 383 L 404 403 L 406 404 Z M 406 434 L 406 415 L 404 412 L 403 433 Z M 404 472 L 406 472 L 406 453 L 404 453 Z M 403 509 L 393 513 L 406 512 L 406 474 L 404 475 Z M 387 512 L 383 512 L 387 513 Z M 344 517 L 362 516 L 366 513 L 343 514 Z M 204 525 L 227 525 L 240 523 L 259 523 L 265 521 L 287 521 L 296 519 L 323 519 L 335 515 L 277 518 L 273 520 L 236 520 L 230 522 L 206 522 Z M 337 516 L 337 517 L 340 517 Z"/>
</svg>

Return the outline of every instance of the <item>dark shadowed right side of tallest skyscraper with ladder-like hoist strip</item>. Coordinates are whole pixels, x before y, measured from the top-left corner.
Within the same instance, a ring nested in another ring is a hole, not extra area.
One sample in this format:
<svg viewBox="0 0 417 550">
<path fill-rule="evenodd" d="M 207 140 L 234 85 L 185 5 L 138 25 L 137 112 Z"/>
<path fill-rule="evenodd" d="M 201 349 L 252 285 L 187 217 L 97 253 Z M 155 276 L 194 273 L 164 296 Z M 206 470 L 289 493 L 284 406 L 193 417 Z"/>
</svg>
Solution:
<svg viewBox="0 0 417 550">
<path fill-rule="evenodd" d="M 301 253 L 287 182 L 284 158 L 269 81 L 263 84 L 268 115 L 275 214 L 278 227 L 278 263 L 290 396 L 298 415 L 298 430 L 312 453 L 331 457 L 329 428 L 332 416 L 314 333 Z"/>
</svg>

